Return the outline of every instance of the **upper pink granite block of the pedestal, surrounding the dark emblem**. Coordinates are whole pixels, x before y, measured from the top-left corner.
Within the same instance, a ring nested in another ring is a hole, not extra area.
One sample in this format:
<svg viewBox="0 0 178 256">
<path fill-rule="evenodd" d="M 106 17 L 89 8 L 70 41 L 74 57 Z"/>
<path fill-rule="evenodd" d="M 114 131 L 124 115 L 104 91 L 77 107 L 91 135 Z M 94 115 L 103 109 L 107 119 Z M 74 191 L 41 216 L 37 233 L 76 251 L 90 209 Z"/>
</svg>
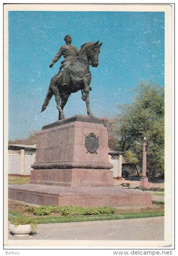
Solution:
<svg viewBox="0 0 178 256">
<path fill-rule="evenodd" d="M 85 135 L 94 133 L 99 136 L 99 148 L 97 154 L 87 153 L 85 147 Z M 46 137 L 45 137 L 46 136 Z M 52 168 L 47 163 L 64 163 L 63 167 L 68 166 L 79 168 L 112 168 L 108 160 L 108 137 L 107 129 L 100 123 L 71 122 L 57 127 L 42 130 L 40 140 L 43 140 L 43 147 L 37 148 L 34 169 Z M 57 142 L 56 142 L 57 141 Z M 42 145 L 41 143 L 38 143 Z M 57 146 L 58 145 L 58 146 Z M 102 145 L 102 146 L 101 146 Z M 44 151 L 41 151 L 44 149 Z M 65 163 L 70 164 L 65 164 Z M 74 164 L 71 165 L 71 162 Z M 37 163 L 44 163 L 37 166 Z M 87 164 L 86 164 L 87 163 Z M 91 166 L 93 164 L 93 167 Z M 61 166 L 61 165 L 60 165 Z M 56 168 L 59 168 L 59 165 Z M 60 167 L 62 168 L 62 166 Z"/>
</svg>

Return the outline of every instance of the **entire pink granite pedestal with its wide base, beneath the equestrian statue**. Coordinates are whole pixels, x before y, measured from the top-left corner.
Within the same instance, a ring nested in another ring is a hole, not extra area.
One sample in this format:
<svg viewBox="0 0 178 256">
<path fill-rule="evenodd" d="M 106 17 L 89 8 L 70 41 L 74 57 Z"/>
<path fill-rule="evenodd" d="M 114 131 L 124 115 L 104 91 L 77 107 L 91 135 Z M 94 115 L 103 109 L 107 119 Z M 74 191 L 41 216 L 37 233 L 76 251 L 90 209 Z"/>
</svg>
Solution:
<svg viewBox="0 0 178 256">
<path fill-rule="evenodd" d="M 38 134 L 31 183 L 9 185 L 9 198 L 59 206 L 142 206 L 151 196 L 114 187 L 107 128 L 97 118 L 76 115 Z"/>
</svg>

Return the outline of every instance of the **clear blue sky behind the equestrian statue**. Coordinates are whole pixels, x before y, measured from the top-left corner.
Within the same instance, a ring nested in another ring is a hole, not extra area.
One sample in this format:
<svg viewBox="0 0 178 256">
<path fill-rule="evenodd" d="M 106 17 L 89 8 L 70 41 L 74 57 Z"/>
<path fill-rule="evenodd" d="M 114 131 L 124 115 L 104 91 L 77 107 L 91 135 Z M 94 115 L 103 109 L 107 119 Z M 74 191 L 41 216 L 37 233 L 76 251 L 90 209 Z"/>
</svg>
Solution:
<svg viewBox="0 0 178 256">
<path fill-rule="evenodd" d="M 90 105 L 96 117 L 117 112 L 130 89 L 147 80 L 164 86 L 164 12 L 38 12 L 9 15 L 9 139 L 28 136 L 58 119 L 54 96 L 41 113 L 60 61 L 49 64 L 70 34 L 72 45 L 102 42 L 92 74 Z M 86 115 L 81 92 L 72 94 L 65 117 Z"/>
</svg>

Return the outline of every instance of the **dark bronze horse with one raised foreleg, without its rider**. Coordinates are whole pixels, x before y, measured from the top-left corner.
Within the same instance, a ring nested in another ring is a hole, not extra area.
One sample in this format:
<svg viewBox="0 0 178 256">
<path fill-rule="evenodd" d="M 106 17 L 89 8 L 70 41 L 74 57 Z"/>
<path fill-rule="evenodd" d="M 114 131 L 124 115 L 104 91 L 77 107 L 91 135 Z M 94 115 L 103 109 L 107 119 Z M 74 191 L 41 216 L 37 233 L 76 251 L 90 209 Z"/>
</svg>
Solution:
<svg viewBox="0 0 178 256">
<path fill-rule="evenodd" d="M 69 86 L 62 86 L 62 73 L 54 75 L 51 79 L 47 96 L 44 100 L 42 110 L 43 112 L 52 97 L 55 96 L 56 107 L 59 110 L 59 120 L 64 119 L 63 108 L 71 95 L 71 93 L 76 93 L 81 90 L 82 100 L 86 102 L 87 114 L 92 117 L 93 114 L 90 110 L 90 82 L 91 73 L 89 66 L 98 67 L 98 56 L 100 53 L 100 46 L 98 42 L 89 42 L 81 46 L 80 52 L 77 56 L 77 60 L 70 66 L 68 73 L 67 83 Z M 60 103 L 61 100 L 61 103 Z"/>
</svg>

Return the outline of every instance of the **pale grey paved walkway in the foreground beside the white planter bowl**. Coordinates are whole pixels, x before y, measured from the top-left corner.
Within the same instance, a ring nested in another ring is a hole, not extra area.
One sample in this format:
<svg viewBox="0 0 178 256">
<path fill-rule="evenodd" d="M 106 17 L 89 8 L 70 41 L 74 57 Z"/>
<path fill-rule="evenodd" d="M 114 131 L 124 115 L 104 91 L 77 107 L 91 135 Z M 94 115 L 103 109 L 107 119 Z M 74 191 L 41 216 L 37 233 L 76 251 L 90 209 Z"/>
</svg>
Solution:
<svg viewBox="0 0 178 256">
<path fill-rule="evenodd" d="M 164 240 L 164 217 L 38 224 L 37 234 L 13 240 Z"/>
</svg>

